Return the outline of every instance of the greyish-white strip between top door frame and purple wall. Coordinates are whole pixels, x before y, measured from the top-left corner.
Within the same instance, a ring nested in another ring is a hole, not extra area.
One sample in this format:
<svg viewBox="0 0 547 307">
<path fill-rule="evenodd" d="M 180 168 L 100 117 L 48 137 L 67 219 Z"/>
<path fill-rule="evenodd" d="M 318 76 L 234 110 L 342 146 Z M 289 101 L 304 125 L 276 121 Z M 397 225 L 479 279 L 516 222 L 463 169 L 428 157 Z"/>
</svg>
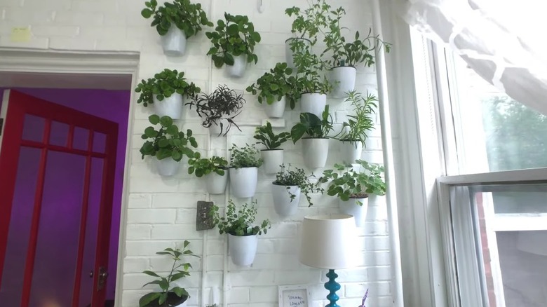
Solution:
<svg viewBox="0 0 547 307">
<path fill-rule="evenodd" d="M 131 75 L 44 74 L 0 71 L 0 88 L 89 88 L 131 90 Z"/>
</svg>

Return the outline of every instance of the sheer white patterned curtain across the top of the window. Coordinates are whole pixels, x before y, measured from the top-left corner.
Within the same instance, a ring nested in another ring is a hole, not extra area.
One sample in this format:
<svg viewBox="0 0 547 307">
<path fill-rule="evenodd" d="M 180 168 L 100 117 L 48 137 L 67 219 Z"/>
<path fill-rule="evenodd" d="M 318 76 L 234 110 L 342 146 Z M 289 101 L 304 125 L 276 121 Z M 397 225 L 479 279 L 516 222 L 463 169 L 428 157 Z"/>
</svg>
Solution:
<svg viewBox="0 0 547 307">
<path fill-rule="evenodd" d="M 405 12 L 482 78 L 547 114 L 547 1 L 409 0 Z"/>
</svg>

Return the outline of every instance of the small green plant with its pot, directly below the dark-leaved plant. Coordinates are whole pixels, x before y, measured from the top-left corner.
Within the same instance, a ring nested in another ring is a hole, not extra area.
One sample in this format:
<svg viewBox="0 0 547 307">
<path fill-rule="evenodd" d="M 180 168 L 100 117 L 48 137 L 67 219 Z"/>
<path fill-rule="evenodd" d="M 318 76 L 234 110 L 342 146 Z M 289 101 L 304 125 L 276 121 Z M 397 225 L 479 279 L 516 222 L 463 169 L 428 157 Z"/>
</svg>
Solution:
<svg viewBox="0 0 547 307">
<path fill-rule="evenodd" d="M 207 192 L 210 194 L 222 194 L 226 191 L 228 183 L 228 161 L 225 158 L 212 156 L 201 158 L 200 153 L 194 153 L 194 158 L 188 160 L 188 173 L 196 174 L 196 177 L 204 177 Z"/>
</svg>

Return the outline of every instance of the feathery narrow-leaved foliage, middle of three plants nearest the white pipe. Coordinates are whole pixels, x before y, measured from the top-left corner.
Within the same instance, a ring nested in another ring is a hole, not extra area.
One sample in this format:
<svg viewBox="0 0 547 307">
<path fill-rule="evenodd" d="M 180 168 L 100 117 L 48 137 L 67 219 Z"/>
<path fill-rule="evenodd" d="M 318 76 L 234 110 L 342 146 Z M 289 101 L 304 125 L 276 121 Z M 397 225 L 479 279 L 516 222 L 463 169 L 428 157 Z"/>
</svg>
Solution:
<svg viewBox="0 0 547 307">
<path fill-rule="evenodd" d="M 378 107 L 376 104 L 378 100 L 372 94 L 367 94 L 364 98 L 360 93 L 352 90 L 345 101 L 351 102 L 355 114 L 347 116 L 348 121 L 344 121 L 342 130 L 335 138 L 342 142 L 360 142 L 365 146 L 367 133 L 374 129 L 374 113 Z"/>
</svg>

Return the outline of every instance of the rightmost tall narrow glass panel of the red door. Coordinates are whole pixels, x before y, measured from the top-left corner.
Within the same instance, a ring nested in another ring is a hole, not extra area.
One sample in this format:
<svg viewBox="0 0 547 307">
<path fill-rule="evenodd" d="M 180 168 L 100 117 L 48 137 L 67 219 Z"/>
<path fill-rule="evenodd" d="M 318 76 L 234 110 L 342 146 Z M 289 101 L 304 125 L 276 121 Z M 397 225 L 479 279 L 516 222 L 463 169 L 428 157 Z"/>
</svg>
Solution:
<svg viewBox="0 0 547 307">
<path fill-rule="evenodd" d="M 88 219 L 86 224 L 86 245 L 83 247 L 83 266 L 81 272 L 80 303 L 86 307 L 91 303 L 93 294 L 93 278 L 89 273 L 95 266 L 95 246 L 97 245 L 97 230 L 99 225 L 99 208 L 102 192 L 102 158 L 91 160 L 89 182 Z"/>
</svg>

